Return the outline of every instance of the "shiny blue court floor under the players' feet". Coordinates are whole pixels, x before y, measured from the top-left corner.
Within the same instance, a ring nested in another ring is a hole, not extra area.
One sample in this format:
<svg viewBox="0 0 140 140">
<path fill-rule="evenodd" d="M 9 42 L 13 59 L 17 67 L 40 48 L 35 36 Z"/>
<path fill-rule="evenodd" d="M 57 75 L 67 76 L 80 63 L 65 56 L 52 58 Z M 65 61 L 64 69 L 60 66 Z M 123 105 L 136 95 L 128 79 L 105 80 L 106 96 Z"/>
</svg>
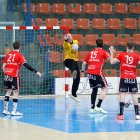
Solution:
<svg viewBox="0 0 140 140">
<path fill-rule="evenodd" d="M 90 95 L 81 95 L 79 99 L 80 103 L 64 97 L 20 99 L 18 110 L 24 113 L 23 117 L 4 116 L 3 100 L 0 100 L 0 118 L 16 119 L 68 133 L 140 131 L 140 120 L 135 120 L 132 105 L 125 109 L 124 121 L 115 119 L 119 111 L 116 95 L 107 95 L 102 104 L 108 111 L 107 115 L 89 113 Z"/>
</svg>

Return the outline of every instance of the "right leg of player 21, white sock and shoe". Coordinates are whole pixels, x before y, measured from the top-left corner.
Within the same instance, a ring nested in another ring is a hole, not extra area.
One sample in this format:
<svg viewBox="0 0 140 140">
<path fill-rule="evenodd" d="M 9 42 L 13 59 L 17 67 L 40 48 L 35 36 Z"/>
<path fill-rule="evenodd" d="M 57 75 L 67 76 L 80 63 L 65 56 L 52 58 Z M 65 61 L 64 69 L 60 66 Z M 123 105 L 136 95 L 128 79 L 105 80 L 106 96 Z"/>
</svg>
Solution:
<svg viewBox="0 0 140 140">
<path fill-rule="evenodd" d="M 19 96 L 19 85 L 20 81 L 18 77 L 13 78 L 12 88 L 13 88 L 13 109 L 11 115 L 13 116 L 21 116 L 22 113 L 17 111 L 18 106 L 18 96 Z"/>
</svg>

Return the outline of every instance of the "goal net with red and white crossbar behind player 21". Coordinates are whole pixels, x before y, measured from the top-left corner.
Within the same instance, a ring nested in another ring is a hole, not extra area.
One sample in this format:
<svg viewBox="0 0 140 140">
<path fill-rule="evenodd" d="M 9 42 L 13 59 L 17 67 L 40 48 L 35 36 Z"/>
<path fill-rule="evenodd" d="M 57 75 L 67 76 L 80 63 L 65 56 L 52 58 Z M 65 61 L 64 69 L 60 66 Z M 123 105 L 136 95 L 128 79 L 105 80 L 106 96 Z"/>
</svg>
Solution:
<svg viewBox="0 0 140 140">
<path fill-rule="evenodd" d="M 0 58 L 2 66 L 5 53 L 12 50 L 14 41 L 21 44 L 20 52 L 27 62 L 37 71 L 43 73 L 39 78 L 22 67 L 20 71 L 20 95 L 54 94 L 55 78 L 64 77 L 63 35 L 68 32 L 65 27 L 53 26 L 0 26 Z M 0 71 L 0 83 L 3 72 Z M 1 87 L 1 95 L 5 92 Z"/>
</svg>

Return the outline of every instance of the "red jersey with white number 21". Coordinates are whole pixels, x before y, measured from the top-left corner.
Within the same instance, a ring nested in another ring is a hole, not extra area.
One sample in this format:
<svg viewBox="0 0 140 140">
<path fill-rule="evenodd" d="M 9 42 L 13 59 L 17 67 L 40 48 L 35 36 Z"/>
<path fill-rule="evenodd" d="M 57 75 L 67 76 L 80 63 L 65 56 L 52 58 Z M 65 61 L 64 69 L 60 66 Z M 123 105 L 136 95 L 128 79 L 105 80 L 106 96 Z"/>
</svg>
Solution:
<svg viewBox="0 0 140 140">
<path fill-rule="evenodd" d="M 19 77 L 20 67 L 26 62 L 24 56 L 18 51 L 9 52 L 5 59 L 4 63 L 6 64 L 4 74 L 7 74 L 11 77 Z"/>
</svg>

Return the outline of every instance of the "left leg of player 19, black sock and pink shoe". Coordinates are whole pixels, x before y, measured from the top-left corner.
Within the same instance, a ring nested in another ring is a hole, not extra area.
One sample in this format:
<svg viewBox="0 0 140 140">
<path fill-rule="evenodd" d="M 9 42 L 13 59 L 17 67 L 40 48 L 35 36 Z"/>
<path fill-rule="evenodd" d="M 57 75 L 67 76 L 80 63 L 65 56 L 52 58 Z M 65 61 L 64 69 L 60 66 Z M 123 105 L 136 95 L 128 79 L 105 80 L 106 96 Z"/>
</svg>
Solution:
<svg viewBox="0 0 140 140">
<path fill-rule="evenodd" d="M 120 95 L 120 99 L 119 99 L 119 109 L 120 112 L 117 115 L 117 119 L 118 120 L 124 120 L 124 106 L 125 106 L 125 96 L 126 93 L 128 92 L 128 81 L 127 79 L 120 79 L 120 85 L 119 85 L 119 95 Z"/>
</svg>

